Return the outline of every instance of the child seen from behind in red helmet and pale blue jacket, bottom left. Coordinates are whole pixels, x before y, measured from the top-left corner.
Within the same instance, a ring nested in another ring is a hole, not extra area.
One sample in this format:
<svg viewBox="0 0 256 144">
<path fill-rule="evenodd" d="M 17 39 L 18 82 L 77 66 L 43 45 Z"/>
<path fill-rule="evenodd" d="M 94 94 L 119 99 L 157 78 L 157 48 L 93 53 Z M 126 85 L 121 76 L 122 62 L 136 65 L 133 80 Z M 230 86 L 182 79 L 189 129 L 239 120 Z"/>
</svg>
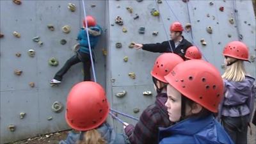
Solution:
<svg viewBox="0 0 256 144">
<path fill-rule="evenodd" d="M 90 100 L 89 100 L 90 99 Z M 84 81 L 76 84 L 67 97 L 67 124 L 80 131 L 70 132 L 59 144 L 122 144 L 125 138 L 106 122 L 109 104 L 100 84 Z"/>
</svg>

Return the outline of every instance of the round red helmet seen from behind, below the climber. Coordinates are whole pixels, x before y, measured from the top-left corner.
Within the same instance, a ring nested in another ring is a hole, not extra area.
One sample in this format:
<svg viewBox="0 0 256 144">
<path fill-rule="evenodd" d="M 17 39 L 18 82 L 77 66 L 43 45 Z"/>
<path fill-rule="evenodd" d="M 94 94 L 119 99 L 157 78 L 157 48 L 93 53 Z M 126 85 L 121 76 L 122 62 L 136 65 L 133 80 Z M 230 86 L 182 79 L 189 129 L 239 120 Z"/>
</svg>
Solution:
<svg viewBox="0 0 256 144">
<path fill-rule="evenodd" d="M 92 81 L 77 83 L 67 97 L 66 121 L 77 131 L 88 131 L 105 122 L 109 104 L 105 91 Z"/>
</svg>

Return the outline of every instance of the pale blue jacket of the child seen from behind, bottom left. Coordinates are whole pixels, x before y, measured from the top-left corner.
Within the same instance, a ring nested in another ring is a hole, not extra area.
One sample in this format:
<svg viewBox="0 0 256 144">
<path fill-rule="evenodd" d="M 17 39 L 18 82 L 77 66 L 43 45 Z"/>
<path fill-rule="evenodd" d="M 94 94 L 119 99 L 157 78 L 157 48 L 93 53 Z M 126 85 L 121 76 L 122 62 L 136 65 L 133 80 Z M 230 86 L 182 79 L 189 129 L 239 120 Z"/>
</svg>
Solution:
<svg viewBox="0 0 256 144">
<path fill-rule="evenodd" d="M 116 134 L 112 127 L 108 123 L 102 124 L 97 129 L 104 140 L 107 141 L 108 144 L 125 144 L 127 143 L 127 139 L 123 134 Z M 83 132 L 76 134 L 74 132 L 69 132 L 66 140 L 61 140 L 59 144 L 76 144 L 76 141 L 83 140 Z"/>
</svg>

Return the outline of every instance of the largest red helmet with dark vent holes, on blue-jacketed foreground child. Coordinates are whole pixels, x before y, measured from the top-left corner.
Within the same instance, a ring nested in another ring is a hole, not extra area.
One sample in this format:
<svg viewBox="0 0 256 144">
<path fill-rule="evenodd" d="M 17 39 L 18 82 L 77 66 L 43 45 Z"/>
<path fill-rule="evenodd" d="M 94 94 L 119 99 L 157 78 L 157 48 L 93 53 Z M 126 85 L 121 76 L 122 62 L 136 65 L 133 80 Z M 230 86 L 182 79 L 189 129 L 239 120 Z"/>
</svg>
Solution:
<svg viewBox="0 0 256 144">
<path fill-rule="evenodd" d="M 220 72 L 203 60 L 189 60 L 178 64 L 164 77 L 182 95 L 217 113 L 223 97 Z"/>
</svg>

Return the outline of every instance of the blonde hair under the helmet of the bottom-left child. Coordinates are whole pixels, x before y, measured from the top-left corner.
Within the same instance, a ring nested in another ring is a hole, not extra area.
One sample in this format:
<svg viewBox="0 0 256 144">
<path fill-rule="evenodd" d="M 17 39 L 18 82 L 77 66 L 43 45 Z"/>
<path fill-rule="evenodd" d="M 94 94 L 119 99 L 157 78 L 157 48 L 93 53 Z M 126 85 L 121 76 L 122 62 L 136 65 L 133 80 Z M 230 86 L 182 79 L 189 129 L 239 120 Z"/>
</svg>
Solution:
<svg viewBox="0 0 256 144">
<path fill-rule="evenodd" d="M 106 144 L 106 141 L 97 129 L 92 129 L 84 132 L 83 140 L 77 141 L 77 144 Z"/>
</svg>

